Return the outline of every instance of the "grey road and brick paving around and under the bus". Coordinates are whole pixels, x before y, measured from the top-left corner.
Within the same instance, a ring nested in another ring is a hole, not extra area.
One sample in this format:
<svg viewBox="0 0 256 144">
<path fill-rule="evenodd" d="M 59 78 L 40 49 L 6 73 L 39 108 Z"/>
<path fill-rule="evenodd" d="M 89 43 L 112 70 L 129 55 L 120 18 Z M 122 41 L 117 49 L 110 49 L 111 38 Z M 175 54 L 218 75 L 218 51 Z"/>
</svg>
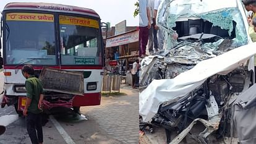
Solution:
<svg viewBox="0 0 256 144">
<path fill-rule="evenodd" d="M 0 91 L 2 90 L 0 73 Z M 138 143 L 139 95 L 103 97 L 101 106 L 83 107 L 81 111 L 89 119 L 81 117 L 51 116 L 43 127 L 44 143 L 67 144 L 122 144 Z M 0 100 L 2 96 L 0 95 Z M 0 136 L 0 144 L 30 143 L 24 117 L 15 114 L 12 106 L 0 108 L 0 124 L 7 125 L 6 132 Z"/>
</svg>

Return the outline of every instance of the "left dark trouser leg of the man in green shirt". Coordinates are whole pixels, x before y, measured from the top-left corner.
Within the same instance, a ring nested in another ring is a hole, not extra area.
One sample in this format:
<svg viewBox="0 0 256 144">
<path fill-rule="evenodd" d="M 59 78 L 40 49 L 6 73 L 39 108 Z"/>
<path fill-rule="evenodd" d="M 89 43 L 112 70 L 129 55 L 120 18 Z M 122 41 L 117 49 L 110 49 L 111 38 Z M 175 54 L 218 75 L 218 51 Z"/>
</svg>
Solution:
<svg viewBox="0 0 256 144">
<path fill-rule="evenodd" d="M 27 124 L 27 131 L 30 137 L 32 144 L 38 144 L 38 139 L 36 136 L 35 130 L 35 116 L 31 112 L 28 112 L 28 116 L 26 116 L 26 124 Z"/>
</svg>

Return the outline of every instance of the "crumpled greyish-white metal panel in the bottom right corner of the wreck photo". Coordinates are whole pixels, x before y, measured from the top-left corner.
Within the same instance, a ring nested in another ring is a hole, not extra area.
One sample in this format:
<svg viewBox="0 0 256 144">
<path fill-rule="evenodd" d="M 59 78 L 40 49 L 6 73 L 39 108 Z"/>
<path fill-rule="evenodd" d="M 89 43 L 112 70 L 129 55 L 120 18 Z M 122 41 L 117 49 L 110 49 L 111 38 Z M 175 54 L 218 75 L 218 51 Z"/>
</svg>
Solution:
<svg viewBox="0 0 256 144">
<path fill-rule="evenodd" d="M 231 137 L 236 132 L 241 144 L 256 143 L 256 124 L 253 121 L 256 119 L 255 90 L 256 85 L 253 85 L 244 91 L 237 97 L 232 106 Z"/>
</svg>

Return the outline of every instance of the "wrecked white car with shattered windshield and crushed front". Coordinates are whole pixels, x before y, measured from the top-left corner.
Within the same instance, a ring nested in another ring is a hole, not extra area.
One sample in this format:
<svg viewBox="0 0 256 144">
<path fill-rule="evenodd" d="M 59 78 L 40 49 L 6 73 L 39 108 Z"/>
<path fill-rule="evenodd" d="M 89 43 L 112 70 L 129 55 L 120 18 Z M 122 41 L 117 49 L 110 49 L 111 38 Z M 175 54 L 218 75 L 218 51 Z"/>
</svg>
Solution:
<svg viewBox="0 0 256 144">
<path fill-rule="evenodd" d="M 255 83 L 256 44 L 242 2 L 165 0 L 157 23 L 165 49 L 141 62 L 140 129 L 161 125 L 167 143 L 180 143 L 188 134 L 208 143 L 216 130 L 230 135 L 231 105 Z M 205 130 L 189 133 L 197 121 Z M 174 130 L 179 134 L 171 140 Z"/>
</svg>

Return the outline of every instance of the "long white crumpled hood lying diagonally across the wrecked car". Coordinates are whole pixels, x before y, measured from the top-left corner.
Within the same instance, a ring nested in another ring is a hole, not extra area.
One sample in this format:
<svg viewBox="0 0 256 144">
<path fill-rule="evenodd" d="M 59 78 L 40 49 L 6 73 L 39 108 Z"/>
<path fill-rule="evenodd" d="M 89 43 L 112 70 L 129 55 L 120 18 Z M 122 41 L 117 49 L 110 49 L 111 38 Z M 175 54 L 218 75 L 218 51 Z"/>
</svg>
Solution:
<svg viewBox="0 0 256 144">
<path fill-rule="evenodd" d="M 139 113 L 143 121 L 150 119 L 158 112 L 160 104 L 173 103 L 186 96 L 190 91 L 202 85 L 208 77 L 215 74 L 225 75 L 245 64 L 256 54 L 256 44 L 247 44 L 228 51 L 220 56 L 199 62 L 192 69 L 183 72 L 173 79 L 153 80 L 140 93 Z M 249 63 L 249 69 L 254 68 Z"/>
</svg>

